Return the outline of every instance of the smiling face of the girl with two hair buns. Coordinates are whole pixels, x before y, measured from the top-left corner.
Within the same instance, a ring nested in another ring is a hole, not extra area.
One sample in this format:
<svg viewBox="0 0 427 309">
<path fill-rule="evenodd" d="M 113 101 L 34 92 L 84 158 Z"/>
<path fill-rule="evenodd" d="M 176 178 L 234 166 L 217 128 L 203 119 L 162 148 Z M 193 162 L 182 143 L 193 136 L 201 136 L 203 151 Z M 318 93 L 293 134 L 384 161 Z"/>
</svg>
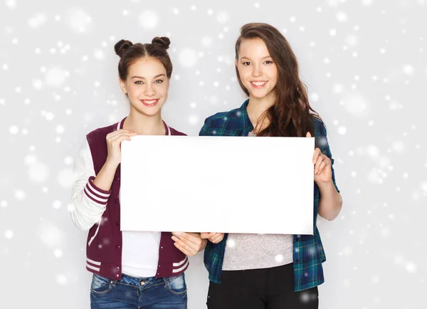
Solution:
<svg viewBox="0 0 427 309">
<path fill-rule="evenodd" d="M 139 58 L 130 66 L 127 79 L 120 80 L 120 88 L 128 95 L 131 113 L 154 116 L 167 100 L 169 78 L 156 58 Z"/>
</svg>

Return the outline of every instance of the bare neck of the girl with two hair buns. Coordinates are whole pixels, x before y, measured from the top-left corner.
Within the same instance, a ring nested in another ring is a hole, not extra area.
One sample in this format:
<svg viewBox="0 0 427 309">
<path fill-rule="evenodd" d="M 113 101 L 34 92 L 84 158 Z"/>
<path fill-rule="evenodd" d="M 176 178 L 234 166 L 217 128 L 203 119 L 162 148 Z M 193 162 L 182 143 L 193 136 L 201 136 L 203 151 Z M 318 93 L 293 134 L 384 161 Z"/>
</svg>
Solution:
<svg viewBox="0 0 427 309">
<path fill-rule="evenodd" d="M 154 116 L 143 115 L 139 112 L 130 112 L 123 128 L 137 132 L 137 135 L 165 135 L 164 123 L 160 112 Z"/>
</svg>

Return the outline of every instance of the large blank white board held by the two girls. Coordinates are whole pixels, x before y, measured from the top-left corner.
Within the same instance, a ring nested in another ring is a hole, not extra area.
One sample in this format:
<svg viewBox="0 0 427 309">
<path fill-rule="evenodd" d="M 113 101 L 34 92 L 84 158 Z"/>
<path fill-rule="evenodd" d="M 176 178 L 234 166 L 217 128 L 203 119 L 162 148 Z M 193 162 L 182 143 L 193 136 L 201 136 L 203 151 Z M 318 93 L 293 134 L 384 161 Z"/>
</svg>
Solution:
<svg viewBox="0 0 427 309">
<path fill-rule="evenodd" d="M 122 142 L 122 231 L 313 234 L 312 137 Z"/>
</svg>

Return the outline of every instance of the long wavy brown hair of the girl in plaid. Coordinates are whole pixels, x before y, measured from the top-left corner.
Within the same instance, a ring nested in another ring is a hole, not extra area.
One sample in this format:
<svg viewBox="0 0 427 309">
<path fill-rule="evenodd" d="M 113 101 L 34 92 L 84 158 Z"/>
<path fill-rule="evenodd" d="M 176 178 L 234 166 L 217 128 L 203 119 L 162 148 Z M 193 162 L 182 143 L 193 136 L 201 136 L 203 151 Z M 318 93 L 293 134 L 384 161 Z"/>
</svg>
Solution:
<svg viewBox="0 0 427 309">
<path fill-rule="evenodd" d="M 270 57 L 278 68 L 278 83 L 275 86 L 277 99 L 263 115 L 258 123 L 263 123 L 265 117 L 269 125 L 258 136 L 293 136 L 305 137 L 307 131 L 314 135 L 313 117 L 320 119 L 313 110 L 307 98 L 307 86 L 301 82 L 298 73 L 298 61 L 286 38 L 277 28 L 268 23 L 247 23 L 241 28 L 241 35 L 236 41 L 236 60 L 241 42 L 245 39 L 260 38 L 267 46 Z M 241 81 L 236 66 L 238 83 L 249 96 L 248 89 Z"/>
</svg>

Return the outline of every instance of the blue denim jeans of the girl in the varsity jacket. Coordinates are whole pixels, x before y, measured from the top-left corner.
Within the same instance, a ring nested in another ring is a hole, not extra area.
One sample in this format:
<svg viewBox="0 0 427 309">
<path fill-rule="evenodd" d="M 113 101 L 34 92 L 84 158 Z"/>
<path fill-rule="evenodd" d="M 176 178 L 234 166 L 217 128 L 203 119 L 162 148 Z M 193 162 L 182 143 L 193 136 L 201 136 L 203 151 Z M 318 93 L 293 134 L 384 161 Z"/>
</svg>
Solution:
<svg viewBox="0 0 427 309">
<path fill-rule="evenodd" d="M 120 281 L 93 275 L 91 309 L 186 309 L 185 276 L 135 278 L 122 275 Z"/>
</svg>

